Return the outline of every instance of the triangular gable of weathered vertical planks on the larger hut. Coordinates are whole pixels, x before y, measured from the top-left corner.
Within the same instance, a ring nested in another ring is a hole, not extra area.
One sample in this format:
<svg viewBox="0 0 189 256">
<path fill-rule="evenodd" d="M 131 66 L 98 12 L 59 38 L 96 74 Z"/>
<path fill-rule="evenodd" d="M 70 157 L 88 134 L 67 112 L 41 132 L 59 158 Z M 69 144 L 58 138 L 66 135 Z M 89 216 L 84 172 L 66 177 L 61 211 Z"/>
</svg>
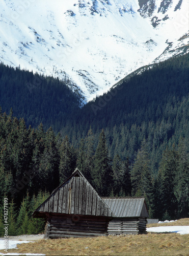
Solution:
<svg viewBox="0 0 189 256">
<path fill-rule="evenodd" d="M 46 213 L 115 217 L 82 173 L 74 173 L 34 211 L 33 217 Z"/>
</svg>

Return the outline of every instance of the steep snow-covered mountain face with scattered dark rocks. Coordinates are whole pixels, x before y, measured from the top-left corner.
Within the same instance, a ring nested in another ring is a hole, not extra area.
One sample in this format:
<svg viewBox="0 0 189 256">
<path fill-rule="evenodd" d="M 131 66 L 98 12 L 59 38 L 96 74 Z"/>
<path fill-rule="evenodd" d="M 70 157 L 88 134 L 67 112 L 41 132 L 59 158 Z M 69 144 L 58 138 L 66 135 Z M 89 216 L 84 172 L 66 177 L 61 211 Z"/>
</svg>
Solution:
<svg viewBox="0 0 189 256">
<path fill-rule="evenodd" d="M 85 101 L 188 51 L 189 0 L 0 0 L 0 61 L 59 77 Z"/>
</svg>

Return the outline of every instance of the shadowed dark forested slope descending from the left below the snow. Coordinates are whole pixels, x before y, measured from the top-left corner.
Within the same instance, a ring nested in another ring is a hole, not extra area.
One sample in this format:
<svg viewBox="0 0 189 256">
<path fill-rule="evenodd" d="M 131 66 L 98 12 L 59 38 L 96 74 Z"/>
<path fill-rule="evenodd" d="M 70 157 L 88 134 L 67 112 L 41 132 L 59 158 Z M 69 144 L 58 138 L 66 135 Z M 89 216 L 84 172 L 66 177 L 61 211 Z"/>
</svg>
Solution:
<svg viewBox="0 0 189 256">
<path fill-rule="evenodd" d="M 27 126 L 43 122 L 46 130 L 59 131 L 80 103 L 80 96 L 58 78 L 0 64 L 0 106 L 7 113 L 12 108 Z"/>
</svg>

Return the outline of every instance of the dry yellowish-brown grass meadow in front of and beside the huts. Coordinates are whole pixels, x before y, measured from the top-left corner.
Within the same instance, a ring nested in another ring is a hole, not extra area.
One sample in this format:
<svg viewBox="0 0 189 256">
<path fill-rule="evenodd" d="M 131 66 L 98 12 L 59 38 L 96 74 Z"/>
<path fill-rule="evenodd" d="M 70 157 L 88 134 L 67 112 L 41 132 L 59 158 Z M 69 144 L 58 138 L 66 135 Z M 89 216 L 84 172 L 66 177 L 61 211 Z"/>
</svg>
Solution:
<svg viewBox="0 0 189 256">
<path fill-rule="evenodd" d="M 188 219 L 152 226 L 189 225 Z M 44 253 L 46 255 L 184 255 L 189 256 L 189 234 L 147 233 L 141 235 L 108 236 L 40 240 L 17 245 L 9 252 Z M 1 252 L 4 252 L 1 250 Z"/>
</svg>

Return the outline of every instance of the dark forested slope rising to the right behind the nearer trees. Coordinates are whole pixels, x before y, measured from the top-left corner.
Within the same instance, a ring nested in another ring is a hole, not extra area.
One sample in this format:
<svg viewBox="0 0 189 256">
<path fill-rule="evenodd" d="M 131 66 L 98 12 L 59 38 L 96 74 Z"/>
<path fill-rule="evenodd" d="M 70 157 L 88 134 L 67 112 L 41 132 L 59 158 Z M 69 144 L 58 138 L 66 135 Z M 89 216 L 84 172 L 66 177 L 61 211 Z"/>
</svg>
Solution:
<svg viewBox="0 0 189 256">
<path fill-rule="evenodd" d="M 110 156 L 119 154 L 131 162 L 146 139 L 152 172 L 157 173 L 166 147 L 178 144 L 180 137 L 189 139 L 188 56 L 174 57 L 143 68 L 141 74 L 129 75 L 109 93 L 85 105 L 77 120 L 70 120 L 62 133 L 76 146 L 75 138 L 86 135 L 90 126 L 95 141 L 103 128 Z"/>
</svg>

